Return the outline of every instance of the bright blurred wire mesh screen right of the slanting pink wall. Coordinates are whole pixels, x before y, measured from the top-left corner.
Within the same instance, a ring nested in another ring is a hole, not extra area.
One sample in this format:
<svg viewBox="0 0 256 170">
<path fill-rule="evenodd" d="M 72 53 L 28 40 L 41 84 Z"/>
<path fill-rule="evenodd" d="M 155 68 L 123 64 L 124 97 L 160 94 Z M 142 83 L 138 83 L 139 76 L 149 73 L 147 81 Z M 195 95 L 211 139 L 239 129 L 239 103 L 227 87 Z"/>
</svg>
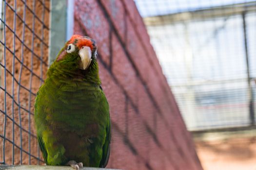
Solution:
<svg viewBox="0 0 256 170">
<path fill-rule="evenodd" d="M 135 2 L 188 129 L 254 127 L 256 1 Z"/>
</svg>

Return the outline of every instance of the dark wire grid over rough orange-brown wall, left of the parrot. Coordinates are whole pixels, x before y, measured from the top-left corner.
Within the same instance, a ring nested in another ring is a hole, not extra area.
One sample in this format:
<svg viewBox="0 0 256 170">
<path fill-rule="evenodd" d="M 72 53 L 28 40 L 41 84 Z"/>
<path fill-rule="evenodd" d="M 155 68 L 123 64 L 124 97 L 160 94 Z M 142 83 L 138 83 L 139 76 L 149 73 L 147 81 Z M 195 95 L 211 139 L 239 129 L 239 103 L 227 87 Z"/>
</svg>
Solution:
<svg viewBox="0 0 256 170">
<path fill-rule="evenodd" d="M 33 105 L 47 68 L 49 0 L 0 5 L 0 164 L 39 164 Z"/>
</svg>

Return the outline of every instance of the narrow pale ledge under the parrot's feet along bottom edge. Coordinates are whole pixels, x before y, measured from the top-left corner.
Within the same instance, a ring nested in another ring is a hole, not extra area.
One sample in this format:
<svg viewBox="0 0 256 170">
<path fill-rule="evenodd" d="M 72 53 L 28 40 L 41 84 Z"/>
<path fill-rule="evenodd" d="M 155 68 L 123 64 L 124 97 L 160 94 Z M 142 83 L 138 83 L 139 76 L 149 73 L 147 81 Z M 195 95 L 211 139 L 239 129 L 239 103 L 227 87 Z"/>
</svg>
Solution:
<svg viewBox="0 0 256 170">
<path fill-rule="evenodd" d="M 74 170 L 68 166 L 46 166 L 46 165 L 0 165 L 0 170 Z M 83 167 L 80 170 L 117 170 L 105 168 Z"/>
</svg>

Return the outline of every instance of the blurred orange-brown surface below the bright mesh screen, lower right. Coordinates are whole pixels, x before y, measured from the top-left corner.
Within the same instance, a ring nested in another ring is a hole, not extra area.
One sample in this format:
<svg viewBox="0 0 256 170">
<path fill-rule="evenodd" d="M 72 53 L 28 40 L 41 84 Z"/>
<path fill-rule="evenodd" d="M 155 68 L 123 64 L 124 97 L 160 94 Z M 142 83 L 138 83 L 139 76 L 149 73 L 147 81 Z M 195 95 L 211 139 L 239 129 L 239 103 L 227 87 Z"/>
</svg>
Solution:
<svg viewBox="0 0 256 170">
<path fill-rule="evenodd" d="M 256 170 L 256 133 L 208 134 L 195 138 L 198 157 L 204 170 Z"/>
</svg>

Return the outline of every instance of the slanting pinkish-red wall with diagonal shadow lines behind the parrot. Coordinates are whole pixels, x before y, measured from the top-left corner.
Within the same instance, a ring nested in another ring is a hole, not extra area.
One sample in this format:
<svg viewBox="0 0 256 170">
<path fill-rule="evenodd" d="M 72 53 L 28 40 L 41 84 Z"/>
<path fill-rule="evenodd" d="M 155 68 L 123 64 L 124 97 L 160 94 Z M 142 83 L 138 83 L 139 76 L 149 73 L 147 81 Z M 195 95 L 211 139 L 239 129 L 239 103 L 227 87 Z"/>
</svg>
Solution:
<svg viewBox="0 0 256 170">
<path fill-rule="evenodd" d="M 75 0 L 74 34 L 98 44 L 112 120 L 109 168 L 201 170 L 133 0 Z"/>
</svg>

